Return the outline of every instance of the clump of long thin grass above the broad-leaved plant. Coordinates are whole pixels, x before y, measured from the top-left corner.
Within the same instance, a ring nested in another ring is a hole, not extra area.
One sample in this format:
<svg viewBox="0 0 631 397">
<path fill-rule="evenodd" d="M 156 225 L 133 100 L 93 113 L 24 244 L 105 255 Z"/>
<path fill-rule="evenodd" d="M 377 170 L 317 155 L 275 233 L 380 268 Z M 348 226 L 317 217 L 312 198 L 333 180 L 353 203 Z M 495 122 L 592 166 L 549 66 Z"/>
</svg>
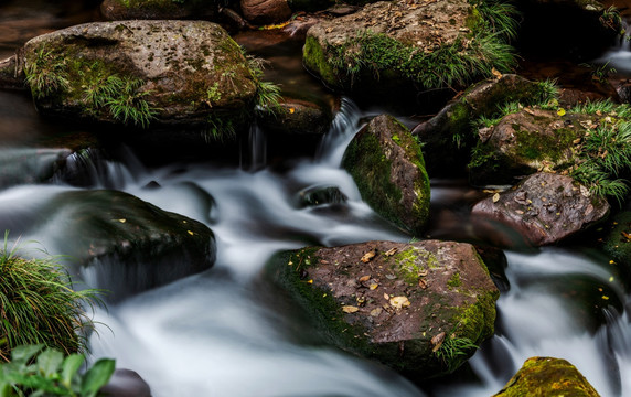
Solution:
<svg viewBox="0 0 631 397">
<path fill-rule="evenodd" d="M 18 246 L 0 249 L 0 358 L 24 344 L 44 344 L 65 354 L 85 350 L 82 332 L 93 328 L 85 305 L 101 304 L 97 290 L 74 291 L 54 257 L 25 259 Z"/>
</svg>

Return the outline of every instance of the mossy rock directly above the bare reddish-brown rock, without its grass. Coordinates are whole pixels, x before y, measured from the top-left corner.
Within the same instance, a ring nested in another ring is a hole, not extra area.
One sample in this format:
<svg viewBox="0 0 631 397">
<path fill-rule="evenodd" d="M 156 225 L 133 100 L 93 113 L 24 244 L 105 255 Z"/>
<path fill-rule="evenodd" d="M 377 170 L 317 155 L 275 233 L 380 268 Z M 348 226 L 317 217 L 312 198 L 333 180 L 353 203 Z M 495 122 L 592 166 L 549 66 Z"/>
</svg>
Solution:
<svg viewBox="0 0 631 397">
<path fill-rule="evenodd" d="M 557 171 L 573 165 L 582 137 L 593 125 L 593 115 L 525 108 L 504 116 L 482 133 L 469 164 L 474 185 L 513 184 L 537 171 Z"/>
</svg>

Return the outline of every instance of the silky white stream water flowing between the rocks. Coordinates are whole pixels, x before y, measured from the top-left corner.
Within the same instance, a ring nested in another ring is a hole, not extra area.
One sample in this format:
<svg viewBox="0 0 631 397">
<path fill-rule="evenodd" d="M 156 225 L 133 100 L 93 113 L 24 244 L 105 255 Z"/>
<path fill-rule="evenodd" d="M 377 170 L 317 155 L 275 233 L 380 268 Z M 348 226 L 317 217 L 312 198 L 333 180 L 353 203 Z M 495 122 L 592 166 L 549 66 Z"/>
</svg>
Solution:
<svg viewBox="0 0 631 397">
<path fill-rule="evenodd" d="M 7 28 L 7 20 L 0 18 L 0 25 Z M 307 78 L 302 72 L 298 75 Z M 207 161 L 148 168 L 127 148 L 118 148 L 111 158 L 77 152 L 68 159 L 66 174 L 53 183 L 6 185 L 0 191 L 0 227 L 10 229 L 12 238 L 33 239 L 51 254 L 64 254 L 58 247 L 64 214 L 53 216 L 47 205 L 64 192 L 106 187 L 213 229 L 217 259 L 212 269 L 95 313 L 100 325 L 89 340 L 90 358 L 116 358 L 118 367 L 138 372 L 157 397 L 491 396 L 535 355 L 567 358 L 602 396 L 631 396 L 629 292 L 616 265 L 584 246 L 505 251 L 506 268 L 492 271 L 502 291 L 495 336 L 458 376 L 415 385 L 376 363 L 319 343 L 309 319 L 265 278 L 264 266 L 274 253 L 306 245 L 410 239 L 370 210 L 340 169 L 345 146 L 372 111 L 342 98 L 317 152 L 288 155 L 274 167 L 267 162 L 265 133 L 256 126 L 236 167 Z M 39 148 L 52 136 L 90 135 L 40 119 L 20 92 L 0 93 L 0 116 L 2 167 L 35 154 L 54 155 L 54 150 Z M 28 172 L 38 170 L 36 161 L 20 163 L 29 164 Z M 82 185 L 89 187 L 71 185 L 68 174 L 81 175 Z M 156 183 L 161 187 L 146 189 Z M 431 184 L 428 236 L 491 244 L 494 234 L 509 233 L 474 227 L 469 208 L 481 193 L 463 181 Z M 313 186 L 336 186 L 347 201 L 301 206 L 300 193 Z M 101 282 L 89 270 L 82 270 L 81 277 L 88 286 Z"/>
</svg>

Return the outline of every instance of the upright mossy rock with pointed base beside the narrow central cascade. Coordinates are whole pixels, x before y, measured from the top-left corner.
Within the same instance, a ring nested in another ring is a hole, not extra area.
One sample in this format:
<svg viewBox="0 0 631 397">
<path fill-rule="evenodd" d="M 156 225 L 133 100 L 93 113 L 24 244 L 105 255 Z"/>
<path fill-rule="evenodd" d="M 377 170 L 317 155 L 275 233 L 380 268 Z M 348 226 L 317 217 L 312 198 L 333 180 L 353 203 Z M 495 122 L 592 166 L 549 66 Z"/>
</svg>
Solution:
<svg viewBox="0 0 631 397">
<path fill-rule="evenodd" d="M 429 217 L 429 178 L 409 130 L 388 115 L 377 116 L 351 141 L 342 167 L 377 214 L 414 234 Z"/>
</svg>

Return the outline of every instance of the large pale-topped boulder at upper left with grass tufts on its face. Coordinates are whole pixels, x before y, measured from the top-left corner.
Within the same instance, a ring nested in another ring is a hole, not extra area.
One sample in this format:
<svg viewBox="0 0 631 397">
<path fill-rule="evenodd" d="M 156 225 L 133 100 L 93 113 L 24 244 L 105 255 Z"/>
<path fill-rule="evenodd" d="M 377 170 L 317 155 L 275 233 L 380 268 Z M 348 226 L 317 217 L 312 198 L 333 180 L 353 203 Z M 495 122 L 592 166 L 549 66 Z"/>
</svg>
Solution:
<svg viewBox="0 0 631 397">
<path fill-rule="evenodd" d="M 257 93 L 242 49 L 204 21 L 96 22 L 29 41 L 24 71 L 44 114 L 234 131 Z"/>
</svg>

